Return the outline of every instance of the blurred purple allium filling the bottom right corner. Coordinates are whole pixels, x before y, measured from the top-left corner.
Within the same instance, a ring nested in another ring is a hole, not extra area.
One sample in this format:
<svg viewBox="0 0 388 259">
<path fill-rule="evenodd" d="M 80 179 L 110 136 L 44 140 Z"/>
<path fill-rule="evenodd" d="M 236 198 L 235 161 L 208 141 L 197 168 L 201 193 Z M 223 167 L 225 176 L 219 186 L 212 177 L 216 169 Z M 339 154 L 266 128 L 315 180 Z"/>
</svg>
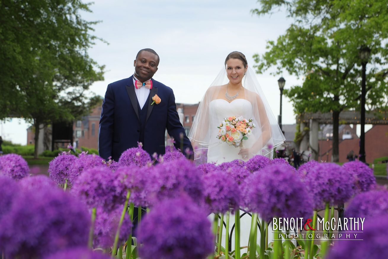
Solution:
<svg viewBox="0 0 388 259">
<path fill-rule="evenodd" d="M 343 240 L 334 244 L 327 259 L 382 259 L 388 258 L 388 215 L 378 215 L 365 219 L 363 233 L 357 239 Z M 346 232 L 345 232 L 346 233 Z"/>
</svg>

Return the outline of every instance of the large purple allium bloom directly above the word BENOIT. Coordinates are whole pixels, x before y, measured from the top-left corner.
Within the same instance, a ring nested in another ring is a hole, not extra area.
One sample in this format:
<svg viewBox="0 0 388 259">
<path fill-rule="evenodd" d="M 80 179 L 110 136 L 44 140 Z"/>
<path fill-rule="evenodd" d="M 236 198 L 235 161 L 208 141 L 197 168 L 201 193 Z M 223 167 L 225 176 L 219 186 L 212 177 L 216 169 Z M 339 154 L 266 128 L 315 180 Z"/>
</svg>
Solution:
<svg viewBox="0 0 388 259">
<path fill-rule="evenodd" d="M 312 199 L 300 177 L 286 165 L 271 165 L 246 178 L 247 207 L 263 219 L 310 217 Z"/>
</svg>

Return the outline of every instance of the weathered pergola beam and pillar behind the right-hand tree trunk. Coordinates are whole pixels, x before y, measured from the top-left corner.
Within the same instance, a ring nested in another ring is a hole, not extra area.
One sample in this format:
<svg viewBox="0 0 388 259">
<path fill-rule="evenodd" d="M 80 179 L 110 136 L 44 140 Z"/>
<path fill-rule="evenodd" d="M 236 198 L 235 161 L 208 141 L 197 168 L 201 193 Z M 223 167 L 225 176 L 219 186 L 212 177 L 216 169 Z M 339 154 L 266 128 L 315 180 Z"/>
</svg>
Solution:
<svg viewBox="0 0 388 259">
<path fill-rule="evenodd" d="M 360 112 L 346 110 L 340 112 L 340 124 L 360 124 Z M 303 137 L 300 143 L 300 152 L 308 148 L 312 151 L 311 159 L 318 159 L 318 131 L 319 124 L 333 124 L 331 113 L 303 113 L 296 116 L 296 122 L 300 123 L 300 131 L 308 127 L 309 134 Z M 365 124 L 388 124 L 388 110 L 372 110 L 365 112 Z"/>
</svg>

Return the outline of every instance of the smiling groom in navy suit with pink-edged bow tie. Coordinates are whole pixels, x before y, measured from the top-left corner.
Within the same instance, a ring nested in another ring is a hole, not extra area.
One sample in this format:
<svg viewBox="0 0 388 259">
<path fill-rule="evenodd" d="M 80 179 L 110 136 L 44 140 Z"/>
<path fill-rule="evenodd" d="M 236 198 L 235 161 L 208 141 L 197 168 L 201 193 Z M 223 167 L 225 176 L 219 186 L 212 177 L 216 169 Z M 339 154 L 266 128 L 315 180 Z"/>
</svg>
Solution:
<svg viewBox="0 0 388 259">
<path fill-rule="evenodd" d="M 99 155 L 118 161 L 121 153 L 142 142 L 150 155 L 165 154 L 165 131 L 175 147 L 192 151 L 179 121 L 172 89 L 152 79 L 158 70 L 159 55 L 142 49 L 133 62 L 135 73 L 108 85 L 102 103 L 99 128 Z M 190 152 L 192 154 L 192 152 Z"/>
</svg>

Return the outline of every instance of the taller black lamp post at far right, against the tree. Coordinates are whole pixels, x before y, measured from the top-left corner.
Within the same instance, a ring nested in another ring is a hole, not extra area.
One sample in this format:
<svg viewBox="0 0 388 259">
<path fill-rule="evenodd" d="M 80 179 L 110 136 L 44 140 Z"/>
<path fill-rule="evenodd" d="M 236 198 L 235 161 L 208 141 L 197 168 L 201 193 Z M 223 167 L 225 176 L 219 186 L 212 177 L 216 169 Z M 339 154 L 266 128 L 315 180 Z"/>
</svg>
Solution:
<svg viewBox="0 0 388 259">
<path fill-rule="evenodd" d="M 359 56 L 362 64 L 362 86 L 361 86 L 361 135 L 360 135 L 360 161 L 365 163 L 365 71 L 366 63 L 368 63 L 371 49 L 367 46 L 362 46 L 359 51 Z"/>
</svg>

